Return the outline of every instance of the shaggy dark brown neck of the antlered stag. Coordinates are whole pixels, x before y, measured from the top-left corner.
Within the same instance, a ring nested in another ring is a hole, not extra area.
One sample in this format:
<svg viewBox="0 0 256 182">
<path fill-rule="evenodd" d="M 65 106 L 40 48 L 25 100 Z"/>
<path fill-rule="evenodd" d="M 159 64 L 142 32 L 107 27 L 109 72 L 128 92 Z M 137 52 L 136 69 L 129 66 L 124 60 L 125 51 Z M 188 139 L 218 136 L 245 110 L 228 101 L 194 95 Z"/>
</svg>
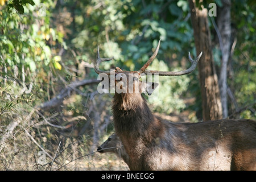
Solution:
<svg viewBox="0 0 256 182">
<path fill-rule="evenodd" d="M 160 129 L 159 120 L 140 93 L 115 93 L 112 109 L 115 132 L 121 139 L 143 138 L 150 142 Z"/>
</svg>

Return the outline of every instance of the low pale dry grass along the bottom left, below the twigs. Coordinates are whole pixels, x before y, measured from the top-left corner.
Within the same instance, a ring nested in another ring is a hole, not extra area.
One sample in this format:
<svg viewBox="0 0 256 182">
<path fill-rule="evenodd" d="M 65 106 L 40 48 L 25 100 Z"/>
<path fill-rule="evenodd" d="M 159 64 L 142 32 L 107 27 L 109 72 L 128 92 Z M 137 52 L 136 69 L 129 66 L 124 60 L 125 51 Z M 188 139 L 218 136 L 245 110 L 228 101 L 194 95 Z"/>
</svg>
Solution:
<svg viewBox="0 0 256 182">
<path fill-rule="evenodd" d="M 0 170 L 129 170 L 115 154 L 90 152 L 86 141 L 67 139 L 63 145 L 58 145 L 54 140 L 35 137 L 35 132 L 31 135 L 21 132 L 2 144 Z M 40 139 L 41 148 L 38 146 Z M 42 153 L 46 154 L 45 161 Z"/>
</svg>

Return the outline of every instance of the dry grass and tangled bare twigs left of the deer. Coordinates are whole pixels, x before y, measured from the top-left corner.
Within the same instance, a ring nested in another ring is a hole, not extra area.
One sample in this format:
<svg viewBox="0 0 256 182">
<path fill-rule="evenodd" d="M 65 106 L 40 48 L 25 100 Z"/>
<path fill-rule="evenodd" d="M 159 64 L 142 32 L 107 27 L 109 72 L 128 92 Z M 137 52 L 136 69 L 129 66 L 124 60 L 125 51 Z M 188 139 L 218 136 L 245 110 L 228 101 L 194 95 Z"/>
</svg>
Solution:
<svg viewBox="0 0 256 182">
<path fill-rule="evenodd" d="M 113 131 L 110 97 L 71 94 L 43 111 L 32 105 L 39 97 L 19 96 L 11 86 L 0 87 L 0 170 L 129 169 L 114 154 L 96 152 Z"/>
</svg>

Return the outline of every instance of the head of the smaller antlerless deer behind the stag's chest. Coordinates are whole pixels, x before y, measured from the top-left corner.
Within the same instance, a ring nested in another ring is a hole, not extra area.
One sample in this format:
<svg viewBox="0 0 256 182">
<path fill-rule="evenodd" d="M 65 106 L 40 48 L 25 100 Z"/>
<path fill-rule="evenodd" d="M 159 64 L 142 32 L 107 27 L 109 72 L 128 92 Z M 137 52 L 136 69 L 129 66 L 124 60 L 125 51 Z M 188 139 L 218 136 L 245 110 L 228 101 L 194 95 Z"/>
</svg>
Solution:
<svg viewBox="0 0 256 182">
<path fill-rule="evenodd" d="M 107 152 L 114 153 L 115 155 L 118 156 L 118 158 L 122 158 L 126 164 L 128 164 L 129 162 L 129 156 L 126 153 L 121 140 L 115 133 L 110 135 L 110 137 L 106 139 L 105 142 L 102 143 L 97 148 L 97 151 L 100 152 L 101 154 L 104 154 Z"/>
</svg>

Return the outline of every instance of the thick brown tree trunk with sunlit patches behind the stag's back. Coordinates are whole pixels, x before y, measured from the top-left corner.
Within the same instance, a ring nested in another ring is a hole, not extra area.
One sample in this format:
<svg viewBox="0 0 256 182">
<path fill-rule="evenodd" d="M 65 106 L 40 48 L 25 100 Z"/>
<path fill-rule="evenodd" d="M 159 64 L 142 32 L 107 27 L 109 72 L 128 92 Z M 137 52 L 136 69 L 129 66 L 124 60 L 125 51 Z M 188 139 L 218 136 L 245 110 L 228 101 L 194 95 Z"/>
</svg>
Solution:
<svg viewBox="0 0 256 182">
<path fill-rule="evenodd" d="M 204 7 L 199 10 L 195 0 L 189 0 L 191 9 L 191 21 L 194 30 L 197 55 L 203 51 L 199 60 L 199 77 L 201 87 L 201 98 L 203 107 L 203 120 L 214 120 L 222 118 L 222 106 L 218 79 L 213 64 L 212 43 L 208 27 L 208 11 Z"/>
</svg>

